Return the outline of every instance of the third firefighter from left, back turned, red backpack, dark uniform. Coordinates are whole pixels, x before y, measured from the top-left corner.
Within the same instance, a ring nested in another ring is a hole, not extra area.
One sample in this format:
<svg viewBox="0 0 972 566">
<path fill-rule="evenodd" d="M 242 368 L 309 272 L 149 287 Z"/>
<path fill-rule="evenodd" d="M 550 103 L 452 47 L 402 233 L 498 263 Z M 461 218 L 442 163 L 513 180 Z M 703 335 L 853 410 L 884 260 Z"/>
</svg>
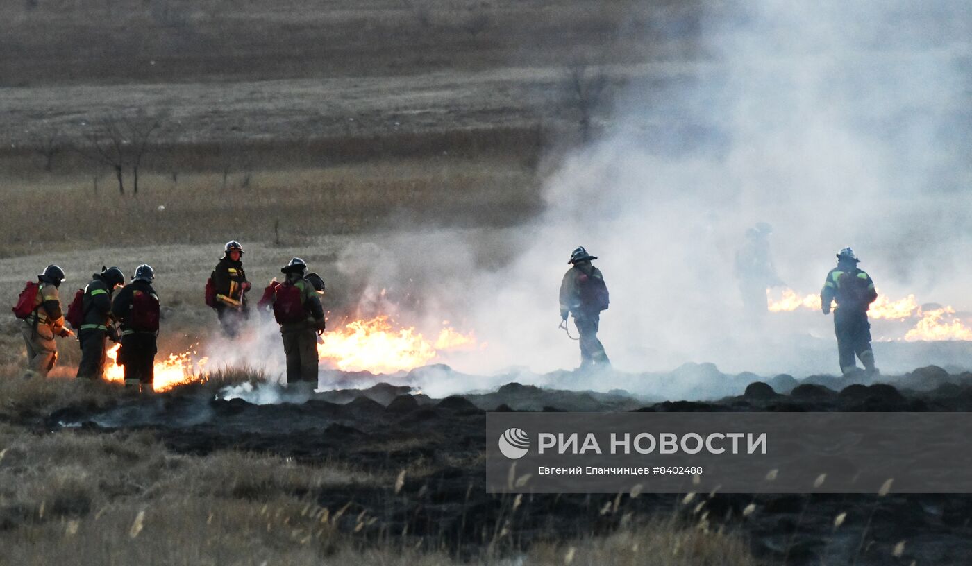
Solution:
<svg viewBox="0 0 972 566">
<path fill-rule="evenodd" d="M 112 315 L 121 323 L 119 363 L 124 367 L 125 388 L 153 392 L 155 381 L 156 338 L 158 336 L 158 295 L 152 288 L 156 273 L 149 265 L 135 269 L 135 275 L 112 302 Z"/>
</svg>

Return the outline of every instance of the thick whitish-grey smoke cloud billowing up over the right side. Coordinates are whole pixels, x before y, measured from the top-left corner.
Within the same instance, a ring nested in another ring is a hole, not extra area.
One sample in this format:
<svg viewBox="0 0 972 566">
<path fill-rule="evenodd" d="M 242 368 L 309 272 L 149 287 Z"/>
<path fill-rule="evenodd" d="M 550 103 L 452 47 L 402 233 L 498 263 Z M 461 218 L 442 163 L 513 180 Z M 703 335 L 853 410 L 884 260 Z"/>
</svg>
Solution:
<svg viewBox="0 0 972 566">
<path fill-rule="evenodd" d="M 832 340 L 829 317 L 743 316 L 732 262 L 757 221 L 773 224 L 778 272 L 802 292 L 816 292 L 834 253 L 851 246 L 883 293 L 967 306 L 972 8 L 762 0 L 704 9 L 712 59 L 660 68 L 664 81 L 652 75 L 622 92 L 606 135 L 548 180 L 547 211 L 510 266 L 464 267 L 473 254 L 451 235 L 414 256 L 450 258 L 443 278 L 460 288 L 438 282 L 423 296 L 461 298 L 489 343 L 457 367 L 573 367 L 576 343 L 556 330 L 557 289 L 583 245 L 611 289 L 601 336 L 619 369 L 712 361 L 835 371 L 836 359 L 800 352 L 811 336 Z M 426 249 L 391 248 L 397 257 Z"/>
</svg>

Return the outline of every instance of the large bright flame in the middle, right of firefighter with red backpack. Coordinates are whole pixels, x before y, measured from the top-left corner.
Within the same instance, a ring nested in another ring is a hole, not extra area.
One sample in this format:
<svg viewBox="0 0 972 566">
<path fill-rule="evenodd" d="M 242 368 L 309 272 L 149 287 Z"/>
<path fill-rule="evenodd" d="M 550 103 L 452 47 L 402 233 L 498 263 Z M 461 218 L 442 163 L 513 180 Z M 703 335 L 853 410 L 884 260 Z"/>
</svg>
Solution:
<svg viewBox="0 0 972 566">
<path fill-rule="evenodd" d="M 434 344 L 414 327 L 392 327 L 388 316 L 355 320 L 340 330 L 324 335 L 318 355 L 342 371 L 368 371 L 374 374 L 411 370 L 433 361 L 440 350 L 456 350 L 476 345 L 473 333 L 462 334 L 443 328 Z"/>
</svg>

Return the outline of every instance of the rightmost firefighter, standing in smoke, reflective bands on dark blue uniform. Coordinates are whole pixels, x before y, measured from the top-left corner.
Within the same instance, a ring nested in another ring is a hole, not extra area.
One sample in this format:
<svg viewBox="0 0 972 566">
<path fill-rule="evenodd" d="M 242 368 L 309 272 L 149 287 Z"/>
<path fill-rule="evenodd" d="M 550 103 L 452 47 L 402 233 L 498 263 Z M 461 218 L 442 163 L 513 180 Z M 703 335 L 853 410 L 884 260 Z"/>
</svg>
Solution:
<svg viewBox="0 0 972 566">
<path fill-rule="evenodd" d="M 868 374 L 877 374 L 874 351 L 871 350 L 871 323 L 867 311 L 878 298 L 871 276 L 857 268 L 860 260 L 853 250 L 845 248 L 837 254 L 837 267 L 830 270 L 820 291 L 820 307 L 824 315 L 830 314 L 831 301 L 837 301 L 834 309 L 834 332 L 837 335 L 837 351 L 841 373 L 856 371 L 854 355 L 864 364 Z"/>
</svg>

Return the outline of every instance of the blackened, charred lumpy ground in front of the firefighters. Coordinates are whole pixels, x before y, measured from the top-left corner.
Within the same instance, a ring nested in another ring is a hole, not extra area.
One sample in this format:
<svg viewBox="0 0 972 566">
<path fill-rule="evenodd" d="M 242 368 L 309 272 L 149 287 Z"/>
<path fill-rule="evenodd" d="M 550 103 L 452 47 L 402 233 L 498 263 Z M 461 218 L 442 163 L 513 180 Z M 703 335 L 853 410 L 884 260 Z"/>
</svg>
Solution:
<svg viewBox="0 0 972 566">
<path fill-rule="evenodd" d="M 433 366 L 396 381 L 419 383 L 429 374 L 464 378 L 448 367 Z M 362 374 L 330 378 L 348 384 L 380 379 Z M 120 397 L 99 409 L 65 407 L 38 418 L 35 425 L 48 430 L 80 428 L 90 434 L 142 429 L 169 449 L 189 454 L 238 449 L 298 462 L 353 463 L 358 469 L 392 476 L 399 470 L 421 469 L 425 473 L 402 477 L 403 497 L 389 497 L 387 486 L 362 483 L 328 490 L 317 504 L 345 506 L 342 528 L 353 536 L 378 538 L 408 525 L 407 536 L 460 553 L 488 545 L 495 533 L 482 525 L 495 523 L 499 529 L 505 520 L 511 521 L 505 525 L 509 531 L 516 533 L 514 548 L 527 548 L 581 533 L 608 533 L 631 520 L 632 514 L 675 516 L 686 524 L 707 514 L 715 528 L 745 533 L 753 553 L 769 563 L 961 564 L 972 555 L 968 495 L 715 493 L 699 494 L 688 502 L 685 495 L 564 494 L 526 496 L 511 508 L 512 497 L 486 493 L 483 466 L 487 411 L 968 412 L 972 373 L 928 366 L 879 382 L 863 375 L 761 379 L 752 374 L 726 376 L 703 364 L 651 378 L 693 380 L 700 391 L 739 389 L 740 394 L 712 401 L 653 401 L 620 389 L 573 390 L 572 382 L 591 378 L 574 372 L 545 378 L 546 383 L 562 385 L 506 383 L 441 399 L 408 384 L 315 391 L 309 386 L 245 383 L 227 386 L 215 396 L 211 389 L 187 385 L 151 398 Z M 627 514 L 605 513 L 622 498 Z M 746 512 L 750 504 L 754 510 Z M 363 512 L 378 520 L 364 527 L 356 524 L 354 517 Z M 842 514 L 846 515 L 838 528 L 835 519 Z M 900 556 L 893 555 L 895 547 L 900 547 Z"/>
</svg>

